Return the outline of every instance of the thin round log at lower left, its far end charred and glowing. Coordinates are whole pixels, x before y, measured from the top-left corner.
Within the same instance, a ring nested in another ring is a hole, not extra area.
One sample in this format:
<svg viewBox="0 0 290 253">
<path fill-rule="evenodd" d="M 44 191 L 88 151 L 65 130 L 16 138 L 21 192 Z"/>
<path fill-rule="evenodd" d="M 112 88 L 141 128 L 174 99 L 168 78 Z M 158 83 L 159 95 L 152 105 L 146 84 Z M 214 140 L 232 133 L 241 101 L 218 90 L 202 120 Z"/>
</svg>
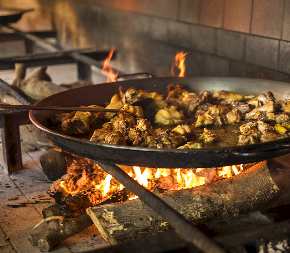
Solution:
<svg viewBox="0 0 290 253">
<path fill-rule="evenodd" d="M 130 192 L 127 189 L 115 192 L 109 199 L 98 203 L 99 205 L 106 205 L 115 202 L 122 202 L 128 199 Z M 32 245 L 38 245 L 41 252 L 48 252 L 54 245 L 62 242 L 64 239 L 73 236 L 93 224 L 90 216 L 86 212 L 81 212 L 79 215 L 66 219 L 63 216 L 52 216 L 40 221 L 36 226 L 50 221 L 45 230 L 31 234 L 28 239 Z"/>
</svg>

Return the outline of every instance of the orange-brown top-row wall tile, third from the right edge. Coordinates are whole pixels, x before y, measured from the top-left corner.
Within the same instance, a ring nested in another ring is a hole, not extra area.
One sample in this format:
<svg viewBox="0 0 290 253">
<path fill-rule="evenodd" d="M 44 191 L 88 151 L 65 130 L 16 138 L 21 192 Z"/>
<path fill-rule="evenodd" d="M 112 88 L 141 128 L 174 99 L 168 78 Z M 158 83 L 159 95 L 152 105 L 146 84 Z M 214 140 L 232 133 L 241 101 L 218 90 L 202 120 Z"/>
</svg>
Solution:
<svg viewBox="0 0 290 253">
<path fill-rule="evenodd" d="M 253 0 L 226 0 L 224 29 L 249 32 Z"/>
</svg>

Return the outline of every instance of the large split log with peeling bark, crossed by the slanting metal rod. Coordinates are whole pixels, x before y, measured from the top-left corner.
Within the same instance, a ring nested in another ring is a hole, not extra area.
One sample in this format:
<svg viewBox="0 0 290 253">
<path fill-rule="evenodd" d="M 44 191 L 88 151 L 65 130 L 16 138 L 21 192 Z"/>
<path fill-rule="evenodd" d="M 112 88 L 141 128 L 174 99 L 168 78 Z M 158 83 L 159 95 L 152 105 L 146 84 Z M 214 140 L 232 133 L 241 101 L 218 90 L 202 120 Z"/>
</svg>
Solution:
<svg viewBox="0 0 290 253">
<path fill-rule="evenodd" d="M 263 161 L 231 178 L 157 196 L 193 225 L 225 218 L 263 208 L 273 201 L 282 192 L 276 168 Z M 112 245 L 173 229 L 139 199 L 92 207 L 86 212 Z"/>
</svg>

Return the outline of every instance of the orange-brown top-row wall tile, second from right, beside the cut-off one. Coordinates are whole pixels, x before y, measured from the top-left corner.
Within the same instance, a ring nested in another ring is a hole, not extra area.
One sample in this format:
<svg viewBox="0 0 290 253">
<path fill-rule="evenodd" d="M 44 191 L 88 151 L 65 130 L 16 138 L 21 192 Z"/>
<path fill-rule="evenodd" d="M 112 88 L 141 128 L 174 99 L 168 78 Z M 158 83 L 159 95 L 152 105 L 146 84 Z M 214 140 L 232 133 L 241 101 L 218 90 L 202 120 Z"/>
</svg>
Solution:
<svg viewBox="0 0 290 253">
<path fill-rule="evenodd" d="M 281 38 L 284 0 L 255 0 L 251 34 Z"/>
</svg>

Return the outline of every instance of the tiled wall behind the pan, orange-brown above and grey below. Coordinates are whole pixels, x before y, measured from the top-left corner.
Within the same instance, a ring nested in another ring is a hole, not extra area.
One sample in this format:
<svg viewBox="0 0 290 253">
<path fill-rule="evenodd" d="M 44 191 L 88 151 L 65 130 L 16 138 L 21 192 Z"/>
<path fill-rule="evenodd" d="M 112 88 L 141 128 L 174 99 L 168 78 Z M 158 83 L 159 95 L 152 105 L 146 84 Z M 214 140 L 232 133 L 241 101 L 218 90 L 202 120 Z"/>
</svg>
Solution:
<svg viewBox="0 0 290 253">
<path fill-rule="evenodd" d="M 186 51 L 187 75 L 290 81 L 290 0 L 29 1 L 52 6 L 62 47 L 114 46 L 124 72 L 168 76 Z"/>
</svg>

